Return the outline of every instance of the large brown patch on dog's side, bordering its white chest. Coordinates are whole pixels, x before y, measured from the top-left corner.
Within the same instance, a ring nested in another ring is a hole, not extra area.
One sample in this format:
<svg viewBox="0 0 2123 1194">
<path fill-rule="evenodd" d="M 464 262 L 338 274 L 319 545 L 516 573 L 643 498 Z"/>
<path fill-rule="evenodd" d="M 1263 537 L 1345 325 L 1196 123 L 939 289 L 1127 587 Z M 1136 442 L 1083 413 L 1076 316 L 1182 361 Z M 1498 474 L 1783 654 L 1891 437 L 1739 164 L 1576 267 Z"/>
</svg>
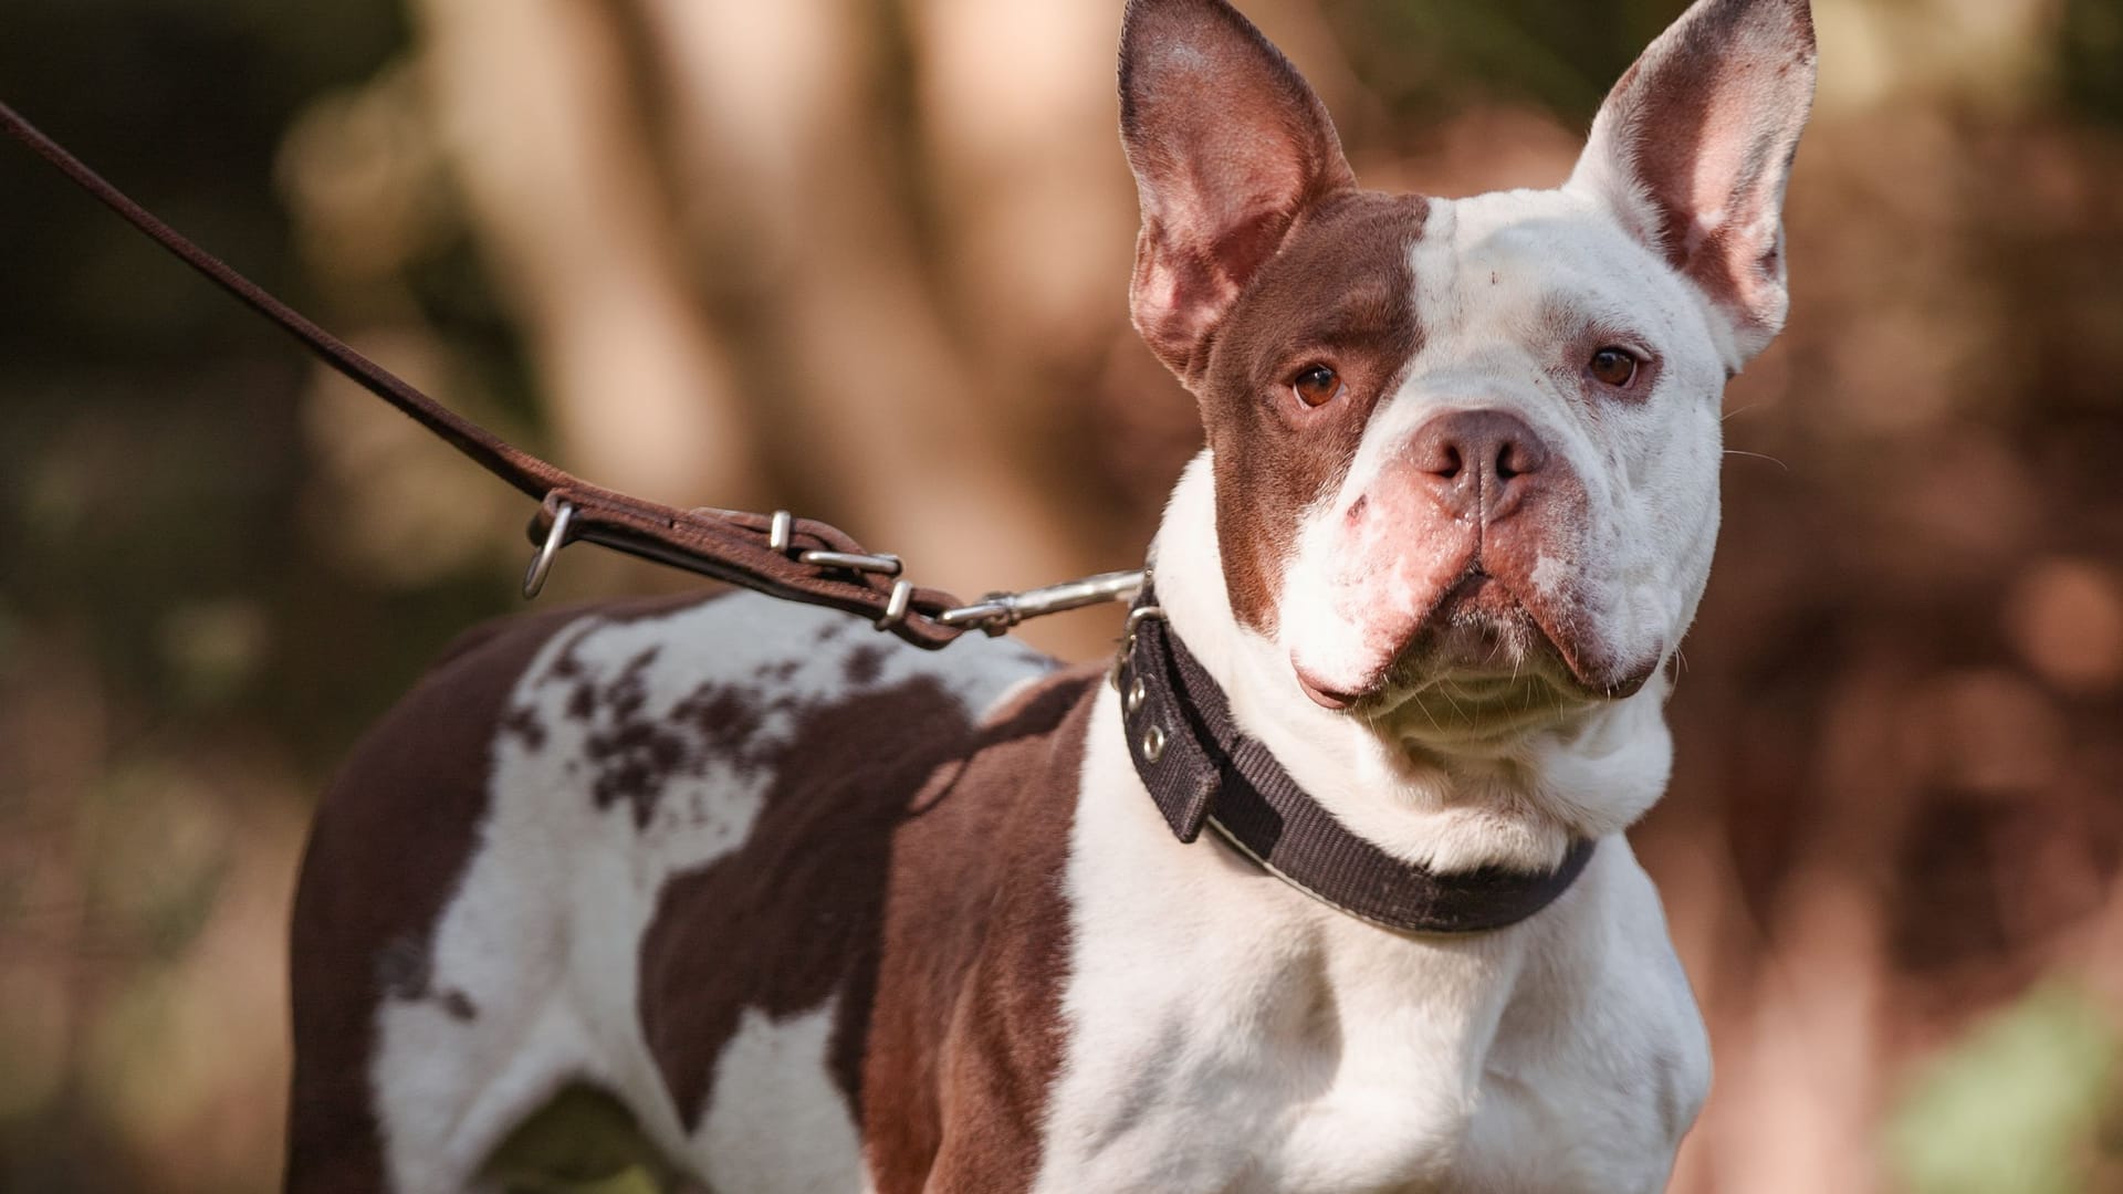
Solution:
<svg viewBox="0 0 2123 1194">
<path fill-rule="evenodd" d="M 688 1128 L 747 1009 L 836 996 L 830 1067 L 883 1194 L 921 1190 L 947 1137 L 1030 1181 L 1083 756 L 1053 731 L 1093 684 L 1047 680 L 985 727 L 934 678 L 786 710 L 790 746 L 747 761 L 773 786 L 743 850 L 673 877 L 641 943 L 641 1028 Z"/>
</svg>

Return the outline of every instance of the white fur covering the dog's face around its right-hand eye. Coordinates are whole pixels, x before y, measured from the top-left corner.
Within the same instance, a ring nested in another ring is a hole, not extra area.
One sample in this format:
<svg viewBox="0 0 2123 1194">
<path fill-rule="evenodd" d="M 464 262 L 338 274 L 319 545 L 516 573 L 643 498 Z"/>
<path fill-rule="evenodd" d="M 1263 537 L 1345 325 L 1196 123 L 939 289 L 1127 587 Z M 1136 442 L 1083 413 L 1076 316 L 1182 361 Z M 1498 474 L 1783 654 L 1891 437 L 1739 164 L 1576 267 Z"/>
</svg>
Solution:
<svg viewBox="0 0 2123 1194">
<path fill-rule="evenodd" d="M 1371 414 L 1340 489 L 1308 512 L 1284 589 L 1284 650 L 1350 688 L 1384 667 L 1391 644 L 1365 633 L 1361 608 L 1429 595 L 1380 591 L 1348 561 L 1399 576 L 1386 557 L 1427 546 L 1363 542 L 1376 523 L 1350 531 L 1342 514 L 1429 419 L 1486 408 L 1524 419 L 1586 487 L 1586 525 L 1558 535 L 1548 580 L 1573 589 L 1609 654 L 1664 659 L 1694 620 L 1718 540 L 1724 365 L 1701 293 L 1573 191 L 1435 200 L 1412 255 L 1422 348 Z M 1656 391 L 1588 397 L 1569 380 L 1582 361 L 1565 355 L 1594 325 L 1658 355 Z"/>
</svg>

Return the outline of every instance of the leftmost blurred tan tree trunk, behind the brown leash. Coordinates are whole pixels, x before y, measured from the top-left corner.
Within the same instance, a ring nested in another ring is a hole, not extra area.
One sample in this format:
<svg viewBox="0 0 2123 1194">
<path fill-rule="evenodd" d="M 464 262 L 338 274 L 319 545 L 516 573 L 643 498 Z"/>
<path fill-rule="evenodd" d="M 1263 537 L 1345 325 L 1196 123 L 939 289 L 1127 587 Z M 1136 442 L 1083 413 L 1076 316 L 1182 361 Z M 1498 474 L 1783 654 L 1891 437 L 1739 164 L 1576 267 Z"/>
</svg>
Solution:
<svg viewBox="0 0 2123 1194">
<path fill-rule="evenodd" d="M 422 0 L 416 11 L 442 136 L 527 331 L 560 459 L 673 504 L 762 497 L 752 412 L 690 293 L 614 8 Z"/>
</svg>

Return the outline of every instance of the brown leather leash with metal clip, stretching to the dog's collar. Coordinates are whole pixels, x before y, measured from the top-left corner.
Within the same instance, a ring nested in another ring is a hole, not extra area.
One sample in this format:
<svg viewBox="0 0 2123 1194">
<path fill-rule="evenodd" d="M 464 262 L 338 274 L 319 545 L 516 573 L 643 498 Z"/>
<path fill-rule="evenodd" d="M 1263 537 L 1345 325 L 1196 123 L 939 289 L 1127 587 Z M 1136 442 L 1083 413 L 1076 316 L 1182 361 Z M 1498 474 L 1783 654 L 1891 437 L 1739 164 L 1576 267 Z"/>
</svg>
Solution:
<svg viewBox="0 0 2123 1194">
<path fill-rule="evenodd" d="M 524 574 L 524 597 L 537 597 L 560 548 L 582 540 L 771 597 L 860 614 L 875 620 L 881 631 L 936 650 L 970 629 L 1004 633 L 1025 618 L 1125 599 L 1142 584 L 1140 572 L 1110 572 L 1025 593 L 991 593 L 981 601 L 962 603 L 949 593 L 913 586 L 900 578 L 898 557 L 864 550 L 845 531 L 813 518 L 796 518 L 786 510 L 775 514 L 679 510 L 590 484 L 507 444 L 363 357 L 136 204 L 4 102 L 0 102 L 0 130 L 36 151 L 76 187 L 206 280 L 299 340 L 338 374 L 537 499 L 539 510 L 529 527 L 537 555 Z"/>
</svg>

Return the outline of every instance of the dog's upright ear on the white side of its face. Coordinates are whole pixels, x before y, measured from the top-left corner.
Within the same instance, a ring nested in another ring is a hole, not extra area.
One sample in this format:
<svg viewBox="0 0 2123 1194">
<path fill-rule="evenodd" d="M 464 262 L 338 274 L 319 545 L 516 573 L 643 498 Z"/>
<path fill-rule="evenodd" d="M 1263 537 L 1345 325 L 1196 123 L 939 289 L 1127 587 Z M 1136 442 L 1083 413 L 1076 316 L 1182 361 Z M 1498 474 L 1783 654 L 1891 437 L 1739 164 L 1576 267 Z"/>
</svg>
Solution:
<svg viewBox="0 0 2123 1194">
<path fill-rule="evenodd" d="M 1783 327 L 1783 187 L 1813 106 L 1807 0 L 1696 0 L 1616 83 L 1571 187 L 1692 278 L 1739 368 Z"/>
</svg>

